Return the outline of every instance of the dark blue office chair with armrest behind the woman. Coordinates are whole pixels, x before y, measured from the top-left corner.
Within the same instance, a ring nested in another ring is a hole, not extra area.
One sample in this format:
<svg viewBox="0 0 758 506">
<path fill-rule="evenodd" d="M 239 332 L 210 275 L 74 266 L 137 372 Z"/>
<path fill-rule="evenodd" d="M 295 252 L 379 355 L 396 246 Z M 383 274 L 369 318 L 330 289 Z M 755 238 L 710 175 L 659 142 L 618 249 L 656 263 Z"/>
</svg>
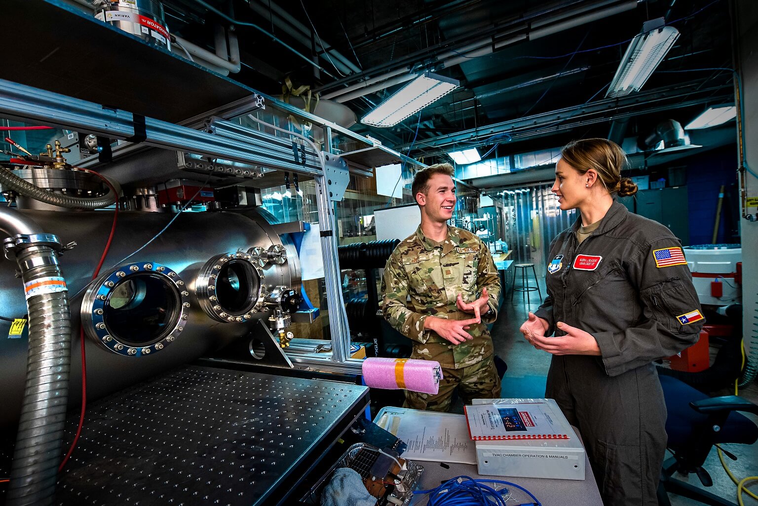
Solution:
<svg viewBox="0 0 758 506">
<path fill-rule="evenodd" d="M 752 445 L 756 442 L 758 426 L 738 411 L 758 415 L 758 406 L 736 395 L 709 398 L 671 376 L 660 376 L 659 379 L 669 412 L 666 419 L 669 442 L 666 446 L 674 454 L 663 463 L 659 504 L 671 506 L 666 492 L 673 492 L 703 504 L 736 506 L 734 502 L 676 478 L 674 473 L 685 476 L 695 473 L 703 486 L 712 486 L 713 480 L 703 468 L 711 448 L 722 443 Z M 737 460 L 724 448 L 721 450 L 732 460 Z"/>
</svg>

